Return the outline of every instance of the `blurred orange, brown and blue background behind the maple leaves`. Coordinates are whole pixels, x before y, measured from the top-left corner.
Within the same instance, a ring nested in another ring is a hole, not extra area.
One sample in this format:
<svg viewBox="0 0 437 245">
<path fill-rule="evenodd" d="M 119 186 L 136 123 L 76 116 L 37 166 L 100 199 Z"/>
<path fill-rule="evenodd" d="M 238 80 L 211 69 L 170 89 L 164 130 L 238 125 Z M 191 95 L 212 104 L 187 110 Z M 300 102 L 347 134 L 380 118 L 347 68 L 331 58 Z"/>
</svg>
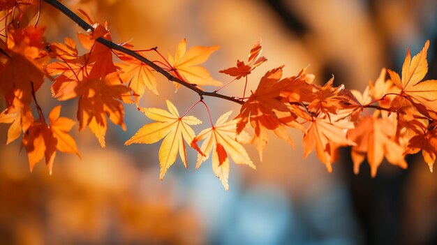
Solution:
<svg viewBox="0 0 437 245">
<path fill-rule="evenodd" d="M 310 64 L 316 82 L 334 74 L 337 85 L 362 90 L 383 67 L 399 72 L 407 47 L 415 54 L 427 39 L 427 77 L 437 77 L 434 0 L 63 2 L 98 22 L 108 20 L 116 43 L 132 38 L 138 49 L 158 46 L 163 54 L 174 53 L 182 38 L 188 47 L 220 45 L 205 67 L 223 82 L 230 77 L 218 70 L 246 60 L 262 38 L 269 61 L 249 76 L 249 89 L 271 68 L 286 64 L 291 76 Z M 49 6 L 42 17 L 49 41 L 81 31 Z M 141 106 L 165 108 L 168 98 L 184 112 L 198 100 L 184 88 L 175 93 L 163 77 L 158 81 L 160 96 L 146 91 Z M 222 91 L 239 96 L 243 87 L 235 82 Z M 38 102 L 45 114 L 58 104 L 50 98 L 50 82 Z M 206 102 L 213 121 L 239 110 L 216 98 Z M 62 105 L 61 114 L 75 118 L 77 100 Z M 316 154 L 302 159 L 302 133 L 290 131 L 296 149 L 270 135 L 262 162 L 247 146 L 258 170 L 231 163 L 227 192 L 210 161 L 194 169 L 191 149 L 188 169 L 178 158 L 159 181 L 160 144 L 124 147 L 150 120 L 135 105 L 125 109 L 128 130 L 110 125 L 106 149 L 89 129 L 78 133 L 75 126 L 82 161 L 57 154 L 52 176 L 43 162 L 29 172 L 19 141 L 1 144 L 0 244 L 437 244 L 437 178 L 421 156 L 409 157 L 405 171 L 384 162 L 372 179 L 366 163 L 353 175 L 350 149 L 342 149 L 328 174 Z M 202 106 L 191 114 L 208 120 Z M 4 142 L 7 130 L 0 125 Z"/>
</svg>

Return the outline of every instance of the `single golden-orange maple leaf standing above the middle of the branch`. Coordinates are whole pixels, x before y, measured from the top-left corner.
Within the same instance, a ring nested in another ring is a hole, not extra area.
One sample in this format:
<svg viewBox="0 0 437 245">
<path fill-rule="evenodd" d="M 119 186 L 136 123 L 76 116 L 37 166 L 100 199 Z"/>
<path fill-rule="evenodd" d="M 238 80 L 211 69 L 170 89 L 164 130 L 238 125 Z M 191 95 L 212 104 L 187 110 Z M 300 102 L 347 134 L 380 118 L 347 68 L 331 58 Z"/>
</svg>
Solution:
<svg viewBox="0 0 437 245">
<path fill-rule="evenodd" d="M 172 75 L 196 86 L 221 86 L 222 83 L 214 80 L 206 68 L 198 66 L 198 64 L 207 61 L 209 55 L 216 50 L 218 50 L 217 45 L 212 47 L 195 46 L 186 51 L 186 39 L 182 39 L 177 45 L 175 57 L 168 54 L 168 62 L 175 69 L 171 72 Z M 177 89 L 180 87 L 180 84 L 175 85 Z"/>
</svg>

